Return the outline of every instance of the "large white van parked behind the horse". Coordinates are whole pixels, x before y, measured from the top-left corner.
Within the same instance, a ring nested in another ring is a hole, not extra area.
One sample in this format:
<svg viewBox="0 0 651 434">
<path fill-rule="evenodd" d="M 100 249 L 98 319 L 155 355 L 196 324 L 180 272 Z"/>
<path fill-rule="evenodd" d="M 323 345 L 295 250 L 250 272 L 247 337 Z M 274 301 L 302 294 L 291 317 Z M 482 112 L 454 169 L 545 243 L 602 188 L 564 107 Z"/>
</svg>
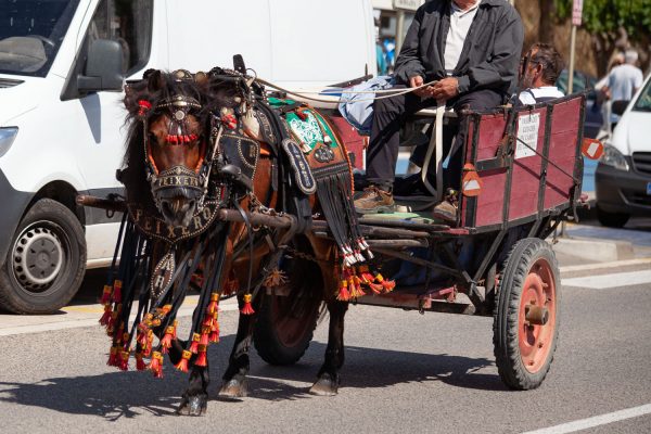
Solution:
<svg viewBox="0 0 651 434">
<path fill-rule="evenodd" d="M 75 204 L 119 193 L 122 88 L 148 68 L 244 56 L 318 87 L 375 72 L 370 0 L 0 0 L 0 308 L 56 310 L 113 256 L 118 218 Z"/>
</svg>

